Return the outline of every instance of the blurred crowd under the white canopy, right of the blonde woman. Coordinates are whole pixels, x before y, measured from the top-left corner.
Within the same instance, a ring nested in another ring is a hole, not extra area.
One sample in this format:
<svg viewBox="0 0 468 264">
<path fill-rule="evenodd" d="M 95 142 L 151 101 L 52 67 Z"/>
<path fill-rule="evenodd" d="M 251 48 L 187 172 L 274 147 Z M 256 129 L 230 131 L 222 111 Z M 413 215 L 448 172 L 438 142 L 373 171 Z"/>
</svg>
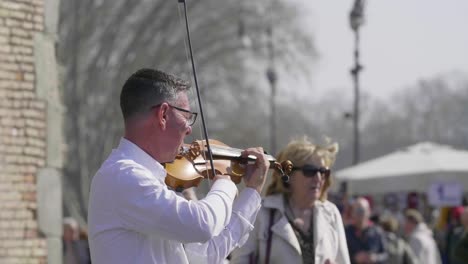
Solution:
<svg viewBox="0 0 468 264">
<path fill-rule="evenodd" d="M 373 214 L 367 198 L 348 201 L 343 222 L 351 263 L 468 263 L 468 207 L 436 212 L 432 219 L 411 207 Z"/>
</svg>

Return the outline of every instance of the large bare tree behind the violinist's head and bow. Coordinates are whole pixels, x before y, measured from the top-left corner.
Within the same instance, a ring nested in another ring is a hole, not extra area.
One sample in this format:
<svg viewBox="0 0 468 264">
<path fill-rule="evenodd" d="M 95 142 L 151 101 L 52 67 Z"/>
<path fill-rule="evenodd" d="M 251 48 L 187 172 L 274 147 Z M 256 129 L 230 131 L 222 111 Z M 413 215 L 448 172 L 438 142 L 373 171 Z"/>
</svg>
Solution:
<svg viewBox="0 0 468 264">
<path fill-rule="evenodd" d="M 299 30 L 296 7 L 280 0 L 254 2 L 255 7 L 250 1 L 188 1 L 212 137 L 232 143 L 249 143 L 247 133 L 251 142 L 261 141 L 265 133 L 249 124 L 261 124 L 267 115 L 267 83 L 255 75 L 268 63 L 262 41 L 267 25 L 275 29 L 275 62 L 288 69 L 282 74 L 309 76 L 315 58 L 312 37 Z M 125 78 L 142 67 L 191 76 L 181 14 L 176 0 L 61 1 L 58 57 L 64 67 L 68 143 L 64 204 L 65 212 L 82 222 L 92 175 L 122 134 L 117 102 Z M 242 45 L 241 25 L 254 43 L 251 49 Z"/>
</svg>

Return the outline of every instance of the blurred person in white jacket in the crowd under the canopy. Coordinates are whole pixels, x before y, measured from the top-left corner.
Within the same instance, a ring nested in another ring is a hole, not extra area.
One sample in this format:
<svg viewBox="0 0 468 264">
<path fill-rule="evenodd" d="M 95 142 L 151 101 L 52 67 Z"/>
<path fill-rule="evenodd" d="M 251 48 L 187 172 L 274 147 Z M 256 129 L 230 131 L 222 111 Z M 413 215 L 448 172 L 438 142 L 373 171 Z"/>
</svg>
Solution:
<svg viewBox="0 0 468 264">
<path fill-rule="evenodd" d="M 432 231 L 424 223 L 424 219 L 419 211 L 415 209 L 408 209 L 406 211 L 404 230 L 410 247 L 419 263 L 442 263 Z"/>
</svg>

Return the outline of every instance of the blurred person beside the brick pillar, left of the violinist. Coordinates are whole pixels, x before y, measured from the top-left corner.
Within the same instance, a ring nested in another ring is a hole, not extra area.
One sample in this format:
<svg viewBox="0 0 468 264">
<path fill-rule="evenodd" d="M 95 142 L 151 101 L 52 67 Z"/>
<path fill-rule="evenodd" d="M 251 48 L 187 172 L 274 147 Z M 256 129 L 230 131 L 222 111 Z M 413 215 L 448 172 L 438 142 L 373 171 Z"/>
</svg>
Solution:
<svg viewBox="0 0 468 264">
<path fill-rule="evenodd" d="M 64 264 L 89 264 L 88 240 L 82 236 L 78 222 L 72 217 L 63 219 L 63 263 Z"/>
</svg>

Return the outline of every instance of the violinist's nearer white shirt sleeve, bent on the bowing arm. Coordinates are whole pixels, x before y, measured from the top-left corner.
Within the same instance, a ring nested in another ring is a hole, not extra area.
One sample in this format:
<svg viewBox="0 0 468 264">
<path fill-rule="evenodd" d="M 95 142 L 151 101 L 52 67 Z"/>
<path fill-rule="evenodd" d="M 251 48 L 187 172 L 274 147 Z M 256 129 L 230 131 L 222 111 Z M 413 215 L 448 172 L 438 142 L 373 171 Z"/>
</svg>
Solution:
<svg viewBox="0 0 468 264">
<path fill-rule="evenodd" d="M 230 221 L 237 193 L 230 180 L 216 180 L 204 199 L 187 201 L 144 169 L 119 176 L 115 210 L 131 230 L 182 243 L 206 242 Z"/>
</svg>

